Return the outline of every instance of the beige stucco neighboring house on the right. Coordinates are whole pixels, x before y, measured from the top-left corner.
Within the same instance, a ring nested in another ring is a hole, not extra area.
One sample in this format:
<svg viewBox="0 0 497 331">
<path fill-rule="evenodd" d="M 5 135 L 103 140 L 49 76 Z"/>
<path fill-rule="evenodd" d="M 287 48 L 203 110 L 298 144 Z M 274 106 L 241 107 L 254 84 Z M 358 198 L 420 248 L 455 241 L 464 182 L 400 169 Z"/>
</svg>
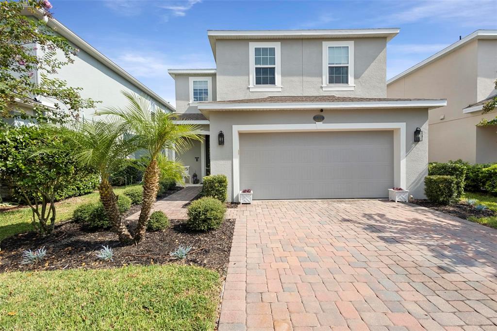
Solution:
<svg viewBox="0 0 497 331">
<path fill-rule="evenodd" d="M 447 99 L 429 112 L 429 161 L 497 162 L 497 128 L 477 127 L 497 94 L 497 30 L 477 30 L 387 82 L 388 97 Z"/>
</svg>

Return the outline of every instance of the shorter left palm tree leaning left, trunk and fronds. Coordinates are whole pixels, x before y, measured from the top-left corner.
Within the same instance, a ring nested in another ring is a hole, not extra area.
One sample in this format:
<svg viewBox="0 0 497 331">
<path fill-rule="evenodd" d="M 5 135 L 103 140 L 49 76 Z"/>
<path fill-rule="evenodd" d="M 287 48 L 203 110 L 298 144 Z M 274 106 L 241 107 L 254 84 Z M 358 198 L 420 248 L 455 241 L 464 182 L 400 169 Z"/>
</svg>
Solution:
<svg viewBox="0 0 497 331">
<path fill-rule="evenodd" d="M 136 139 L 126 137 L 122 121 L 83 121 L 70 127 L 53 127 L 53 135 L 68 141 L 67 149 L 83 166 L 94 168 L 100 175 L 98 185 L 105 214 L 123 244 L 133 237 L 124 224 L 117 207 L 117 196 L 109 182 L 110 175 L 137 150 Z"/>
</svg>

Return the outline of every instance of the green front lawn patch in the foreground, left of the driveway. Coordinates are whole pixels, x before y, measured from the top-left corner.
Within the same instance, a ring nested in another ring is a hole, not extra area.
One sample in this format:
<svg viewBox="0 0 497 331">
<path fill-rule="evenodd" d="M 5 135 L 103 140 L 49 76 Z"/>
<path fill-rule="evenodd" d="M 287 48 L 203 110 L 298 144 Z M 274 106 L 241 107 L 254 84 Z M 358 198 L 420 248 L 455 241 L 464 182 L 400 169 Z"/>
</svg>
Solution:
<svg viewBox="0 0 497 331">
<path fill-rule="evenodd" d="M 177 264 L 0 274 L 1 330 L 214 330 L 219 274 Z"/>
</svg>

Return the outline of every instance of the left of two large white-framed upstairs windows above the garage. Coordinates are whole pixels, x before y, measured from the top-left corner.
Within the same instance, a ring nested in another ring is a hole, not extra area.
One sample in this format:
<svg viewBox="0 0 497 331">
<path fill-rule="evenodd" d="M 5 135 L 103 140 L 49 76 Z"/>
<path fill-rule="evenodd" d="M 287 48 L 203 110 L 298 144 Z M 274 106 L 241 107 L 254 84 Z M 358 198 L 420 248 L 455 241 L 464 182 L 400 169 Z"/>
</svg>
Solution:
<svg viewBox="0 0 497 331">
<path fill-rule="evenodd" d="M 249 90 L 281 91 L 279 42 L 249 43 Z"/>
</svg>

